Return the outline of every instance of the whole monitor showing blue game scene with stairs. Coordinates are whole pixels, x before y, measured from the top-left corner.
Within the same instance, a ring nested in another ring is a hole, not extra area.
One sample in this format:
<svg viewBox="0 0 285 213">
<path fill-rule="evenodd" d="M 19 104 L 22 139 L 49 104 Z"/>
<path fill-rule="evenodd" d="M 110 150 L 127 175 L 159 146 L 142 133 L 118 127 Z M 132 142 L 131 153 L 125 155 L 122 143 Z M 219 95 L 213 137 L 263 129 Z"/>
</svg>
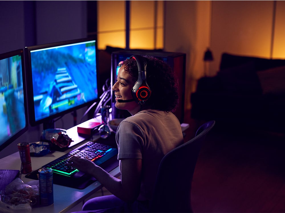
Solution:
<svg viewBox="0 0 285 213">
<path fill-rule="evenodd" d="M 54 128 L 54 118 L 98 99 L 96 39 L 26 47 L 25 54 L 31 126 Z"/>
</svg>

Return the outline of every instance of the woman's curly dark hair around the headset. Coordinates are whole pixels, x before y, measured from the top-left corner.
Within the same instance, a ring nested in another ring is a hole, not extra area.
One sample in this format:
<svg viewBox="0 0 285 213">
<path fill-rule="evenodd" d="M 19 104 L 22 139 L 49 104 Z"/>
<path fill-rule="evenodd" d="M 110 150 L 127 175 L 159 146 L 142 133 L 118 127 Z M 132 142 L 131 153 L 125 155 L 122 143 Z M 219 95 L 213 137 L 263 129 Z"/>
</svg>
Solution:
<svg viewBox="0 0 285 213">
<path fill-rule="evenodd" d="M 147 62 L 146 82 L 151 90 L 145 105 L 152 109 L 174 112 L 178 105 L 178 81 L 172 68 L 164 61 L 153 56 L 144 55 Z M 135 59 L 126 59 L 122 65 L 125 71 L 137 81 L 139 72 Z"/>
</svg>

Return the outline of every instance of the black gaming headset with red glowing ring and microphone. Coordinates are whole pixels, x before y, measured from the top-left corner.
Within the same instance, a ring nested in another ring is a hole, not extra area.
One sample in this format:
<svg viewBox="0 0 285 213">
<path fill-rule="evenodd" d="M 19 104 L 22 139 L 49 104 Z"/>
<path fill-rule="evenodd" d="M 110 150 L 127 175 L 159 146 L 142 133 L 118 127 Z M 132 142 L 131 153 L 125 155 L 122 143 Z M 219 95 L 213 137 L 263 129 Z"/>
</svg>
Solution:
<svg viewBox="0 0 285 213">
<path fill-rule="evenodd" d="M 130 59 L 133 58 L 137 61 L 139 77 L 132 89 L 133 99 L 128 100 L 118 100 L 120 103 L 126 103 L 131 101 L 137 101 L 139 104 L 144 104 L 150 97 L 151 90 L 146 83 L 146 59 L 141 55 L 133 55 Z"/>
</svg>

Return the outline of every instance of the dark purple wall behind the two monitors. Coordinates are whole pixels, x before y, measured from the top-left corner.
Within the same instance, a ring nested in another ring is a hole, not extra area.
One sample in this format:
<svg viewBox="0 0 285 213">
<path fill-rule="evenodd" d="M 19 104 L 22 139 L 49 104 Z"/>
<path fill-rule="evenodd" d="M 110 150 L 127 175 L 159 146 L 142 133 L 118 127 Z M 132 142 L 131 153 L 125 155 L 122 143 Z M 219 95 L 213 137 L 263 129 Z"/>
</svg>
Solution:
<svg viewBox="0 0 285 213">
<path fill-rule="evenodd" d="M 36 44 L 87 37 L 86 1 L 0 1 L 0 52 Z M 86 107 L 77 110 L 78 120 Z M 71 113 L 55 123 L 73 126 Z M 29 130 L 0 152 L 0 158 L 17 152 L 17 143 L 39 141 L 42 125 Z M 20 166 L 20 165 L 19 165 Z"/>
</svg>

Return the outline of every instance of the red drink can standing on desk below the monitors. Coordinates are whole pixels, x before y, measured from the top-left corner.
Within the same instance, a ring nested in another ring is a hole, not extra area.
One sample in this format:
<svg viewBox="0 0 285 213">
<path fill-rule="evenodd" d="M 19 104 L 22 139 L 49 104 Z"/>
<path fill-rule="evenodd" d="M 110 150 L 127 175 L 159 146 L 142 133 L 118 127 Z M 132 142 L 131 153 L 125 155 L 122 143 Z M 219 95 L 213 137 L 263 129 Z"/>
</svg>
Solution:
<svg viewBox="0 0 285 213">
<path fill-rule="evenodd" d="M 28 174 L 32 172 L 32 162 L 30 156 L 30 144 L 18 143 L 18 150 L 21 158 L 21 173 Z"/>
</svg>

